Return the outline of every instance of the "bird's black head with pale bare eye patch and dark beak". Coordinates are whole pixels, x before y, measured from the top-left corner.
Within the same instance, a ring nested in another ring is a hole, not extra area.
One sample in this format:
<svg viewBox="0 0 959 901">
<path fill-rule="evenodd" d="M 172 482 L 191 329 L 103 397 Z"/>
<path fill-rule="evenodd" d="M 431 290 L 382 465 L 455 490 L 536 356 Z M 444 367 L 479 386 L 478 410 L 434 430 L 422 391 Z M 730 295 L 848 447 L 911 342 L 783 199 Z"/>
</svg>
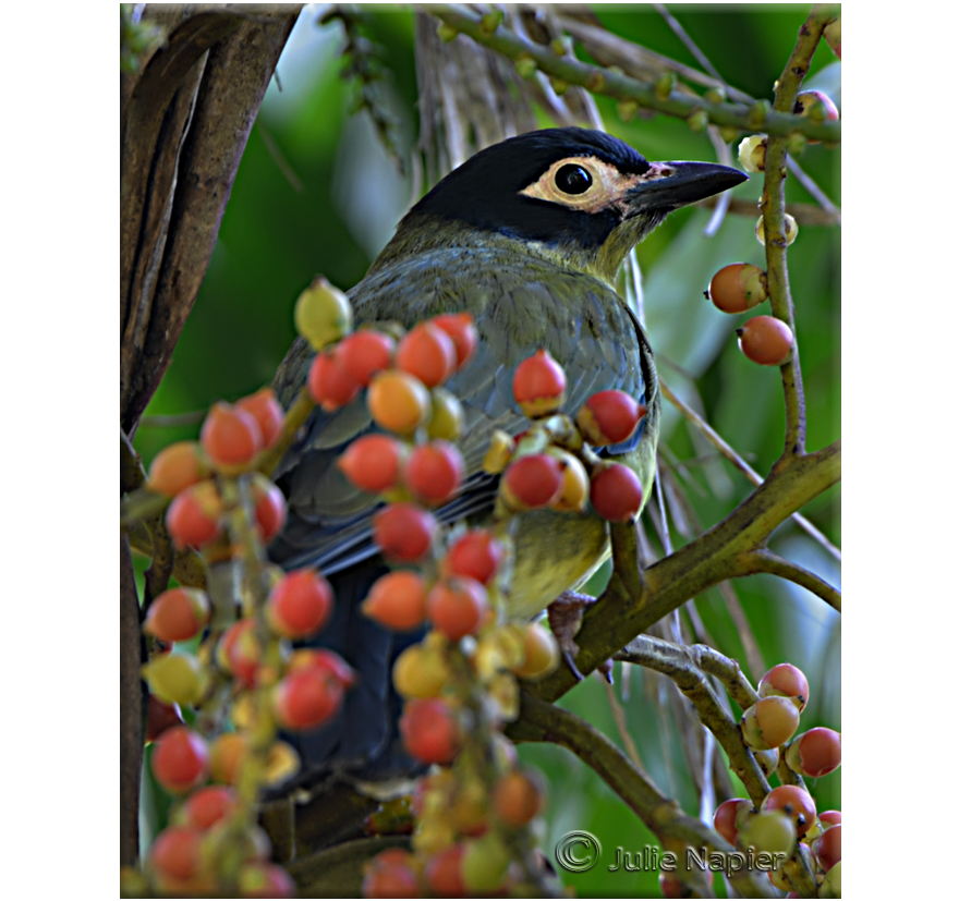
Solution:
<svg viewBox="0 0 959 901">
<path fill-rule="evenodd" d="M 450 172 L 400 223 L 439 234 L 503 235 L 611 279 L 622 258 L 677 207 L 745 180 L 704 162 L 648 162 L 588 129 L 527 132 L 481 150 Z"/>
</svg>

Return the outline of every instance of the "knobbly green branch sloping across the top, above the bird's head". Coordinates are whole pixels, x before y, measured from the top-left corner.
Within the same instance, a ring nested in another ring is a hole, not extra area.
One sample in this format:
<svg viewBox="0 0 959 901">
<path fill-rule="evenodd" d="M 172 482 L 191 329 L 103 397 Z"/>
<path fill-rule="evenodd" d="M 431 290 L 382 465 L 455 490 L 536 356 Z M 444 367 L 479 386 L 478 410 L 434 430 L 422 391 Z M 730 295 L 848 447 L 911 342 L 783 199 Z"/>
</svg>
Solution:
<svg viewBox="0 0 959 901">
<path fill-rule="evenodd" d="M 652 82 L 641 82 L 621 72 L 558 56 L 551 47 L 523 40 L 509 29 L 499 27 L 495 16 L 476 19 L 465 8 L 449 3 L 420 3 L 420 8 L 435 15 L 453 32 L 462 32 L 477 44 L 491 47 L 505 57 L 520 62 L 523 69 L 533 63 L 547 75 L 566 84 L 584 87 L 593 94 L 632 101 L 680 119 L 688 119 L 693 113 L 703 111 L 709 122 L 742 131 L 762 130 L 784 137 L 801 132 L 806 137 L 829 142 L 839 142 L 842 138 L 838 122 L 813 123 L 809 117 L 769 111 L 768 104 L 763 102 L 746 108 L 738 104 L 711 102 L 694 94 L 678 90 L 660 96 L 661 88 L 657 93 L 657 87 Z"/>
</svg>

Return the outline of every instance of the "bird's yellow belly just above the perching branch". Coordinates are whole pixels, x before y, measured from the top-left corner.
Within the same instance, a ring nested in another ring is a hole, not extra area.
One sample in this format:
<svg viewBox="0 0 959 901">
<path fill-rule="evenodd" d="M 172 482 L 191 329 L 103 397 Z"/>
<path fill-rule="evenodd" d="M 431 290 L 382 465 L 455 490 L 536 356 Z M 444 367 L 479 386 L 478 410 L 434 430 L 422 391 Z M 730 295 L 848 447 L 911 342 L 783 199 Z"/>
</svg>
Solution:
<svg viewBox="0 0 959 901">
<path fill-rule="evenodd" d="M 534 617 L 588 579 L 609 556 L 609 533 L 596 515 L 524 513 L 517 523 L 510 617 Z"/>
</svg>

